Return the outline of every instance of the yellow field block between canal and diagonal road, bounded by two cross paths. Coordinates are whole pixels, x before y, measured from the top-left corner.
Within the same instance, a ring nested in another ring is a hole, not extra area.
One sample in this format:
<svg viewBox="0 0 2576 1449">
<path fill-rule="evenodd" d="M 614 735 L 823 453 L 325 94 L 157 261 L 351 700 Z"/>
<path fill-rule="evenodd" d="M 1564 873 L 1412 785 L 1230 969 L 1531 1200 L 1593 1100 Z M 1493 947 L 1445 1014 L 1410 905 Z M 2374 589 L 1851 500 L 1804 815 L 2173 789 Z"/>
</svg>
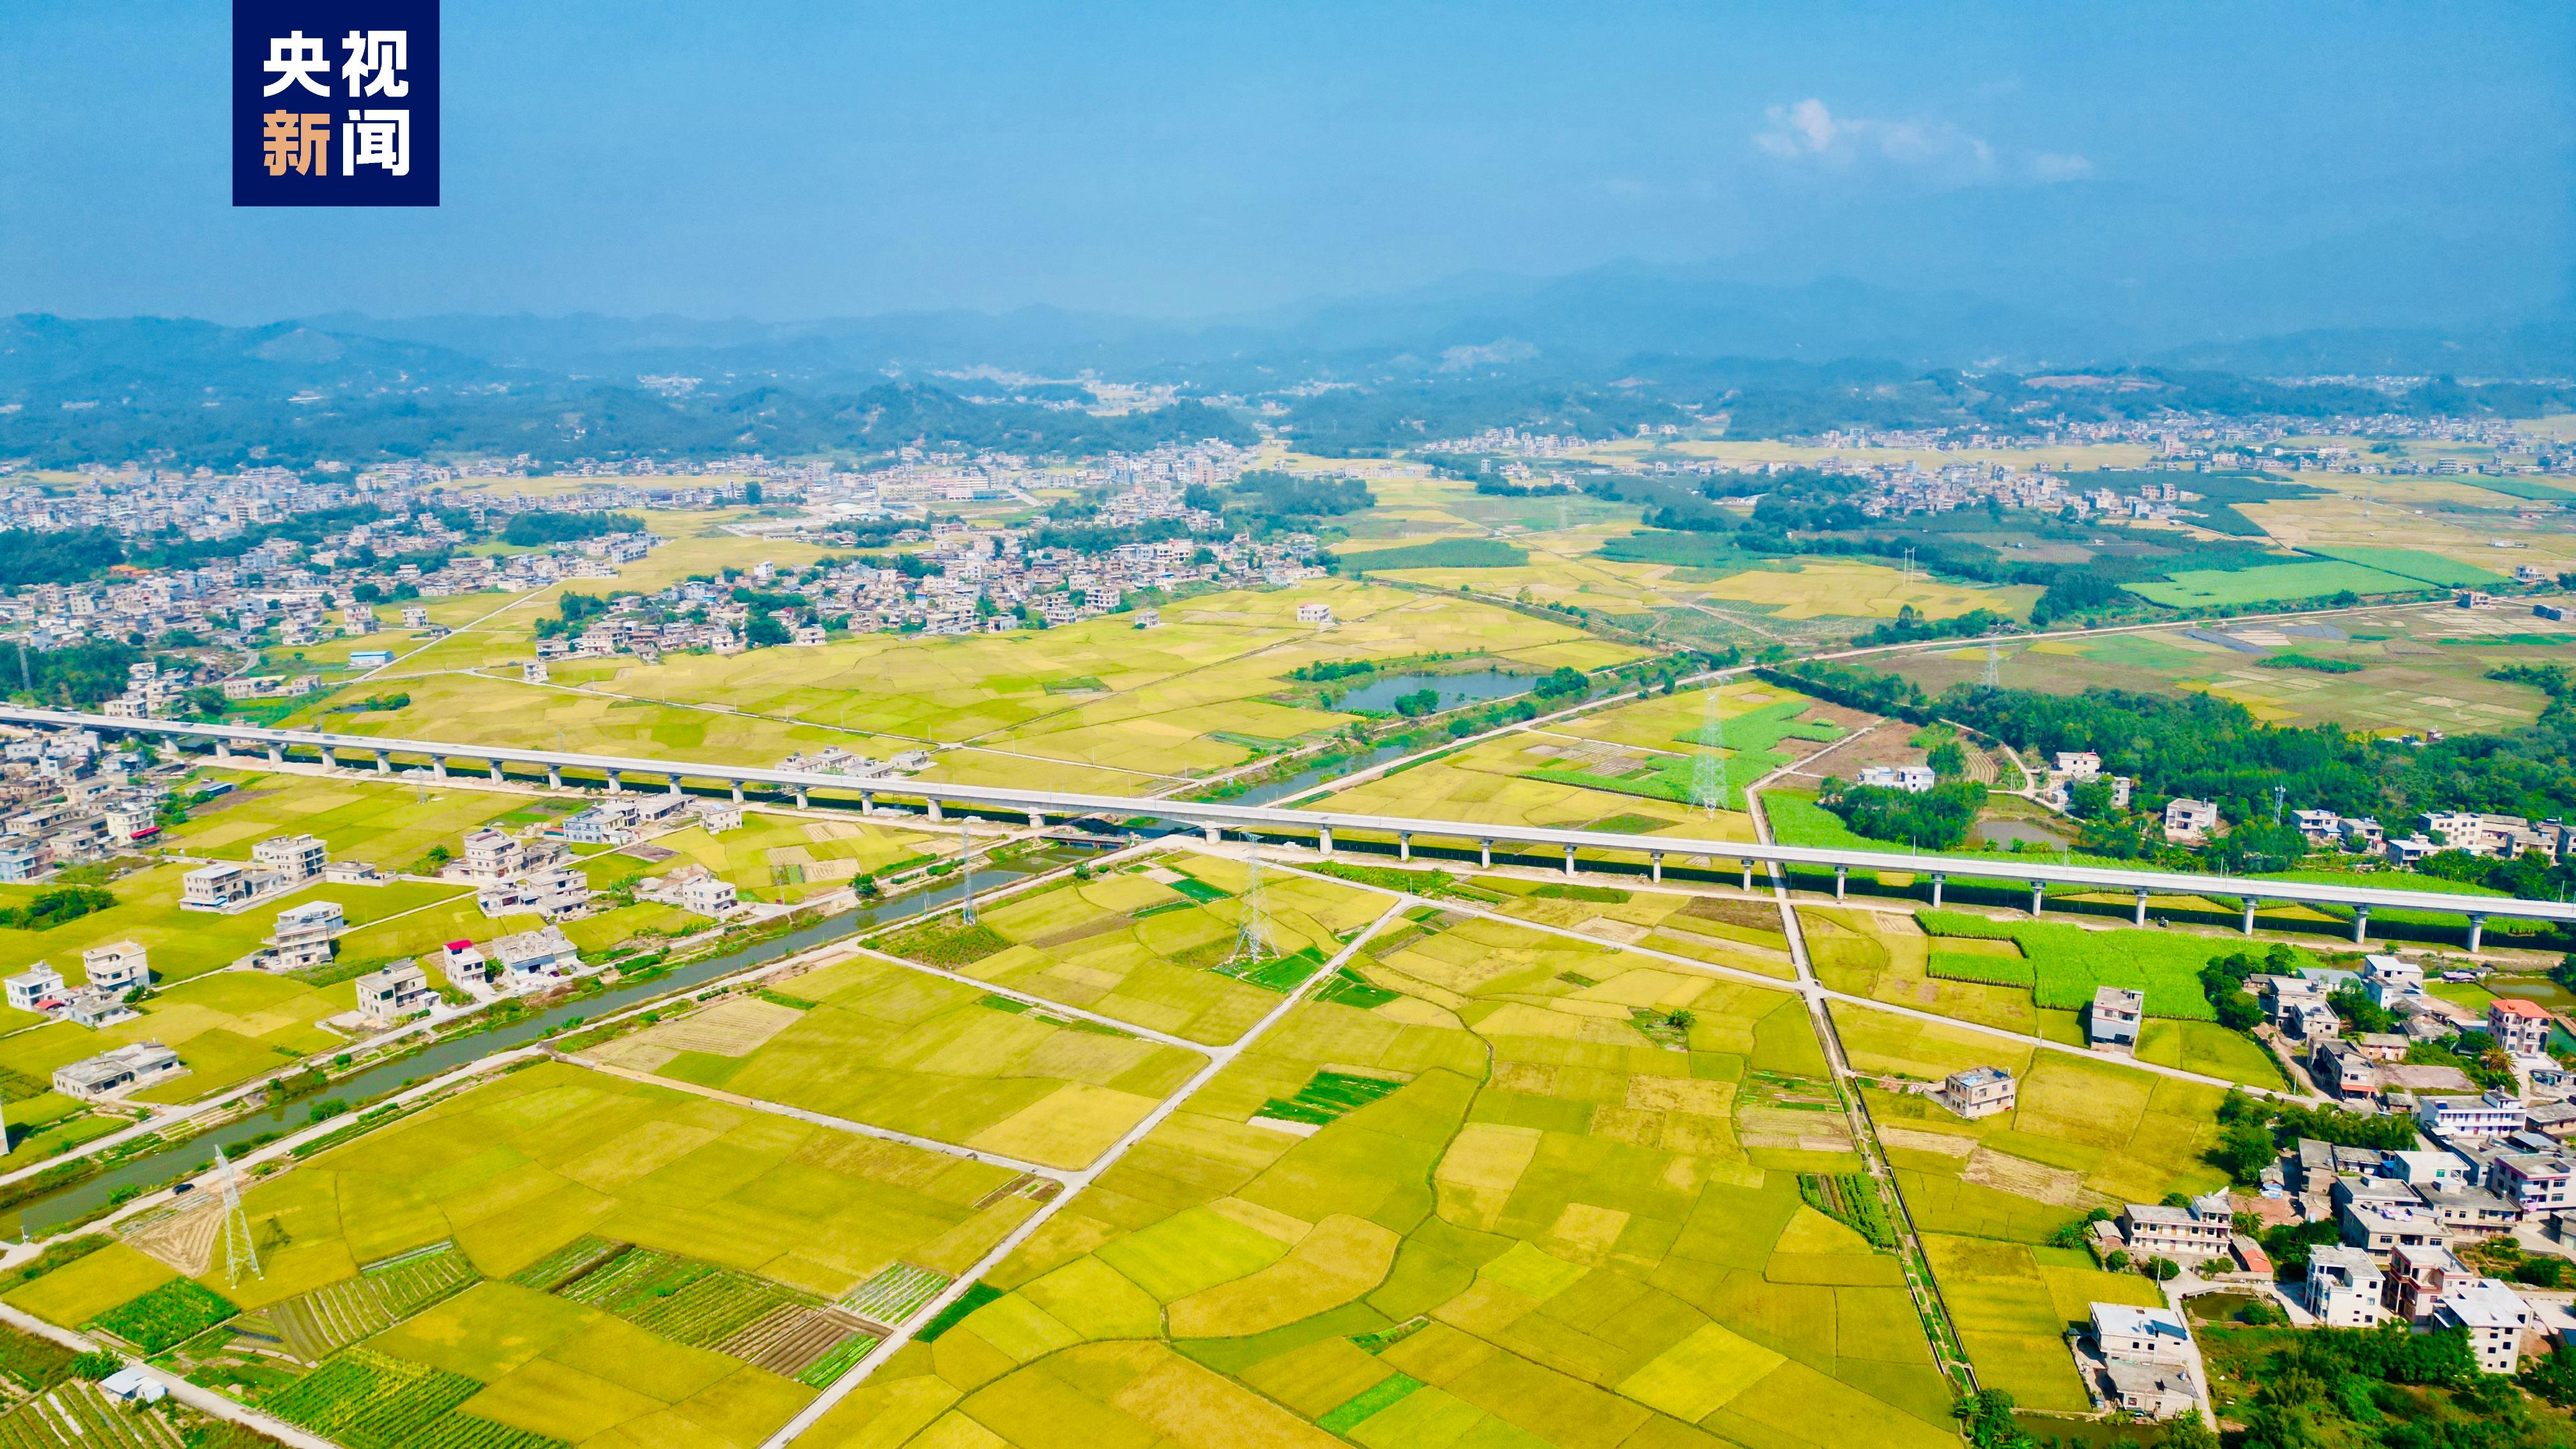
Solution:
<svg viewBox="0 0 2576 1449">
<path fill-rule="evenodd" d="M 657 1073 L 1056 1168 L 1082 1168 L 1200 1057 L 1056 1024 L 971 985 L 853 959 L 598 1047 Z"/>
</svg>

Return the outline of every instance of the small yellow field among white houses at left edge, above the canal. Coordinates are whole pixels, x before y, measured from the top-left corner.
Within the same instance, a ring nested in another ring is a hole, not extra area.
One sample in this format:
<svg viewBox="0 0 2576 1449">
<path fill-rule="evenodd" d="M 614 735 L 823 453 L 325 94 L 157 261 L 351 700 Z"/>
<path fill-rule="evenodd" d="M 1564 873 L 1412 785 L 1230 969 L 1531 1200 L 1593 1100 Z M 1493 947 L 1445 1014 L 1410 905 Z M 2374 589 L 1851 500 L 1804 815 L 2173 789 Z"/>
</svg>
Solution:
<svg viewBox="0 0 2576 1449">
<path fill-rule="evenodd" d="M 137 1091 L 134 1101 L 191 1101 L 260 1075 L 294 1070 L 301 1057 L 348 1042 L 348 1036 L 325 1029 L 322 1021 L 355 1011 L 355 1006 L 358 987 L 348 982 L 312 987 L 263 972 L 214 972 L 155 990 L 137 1003 L 142 1016 L 134 1021 L 98 1031 L 52 1021 L 0 1036 L 0 1070 L 52 1080 L 54 1067 L 111 1047 L 160 1042 L 178 1052 L 188 1073 Z"/>
</svg>

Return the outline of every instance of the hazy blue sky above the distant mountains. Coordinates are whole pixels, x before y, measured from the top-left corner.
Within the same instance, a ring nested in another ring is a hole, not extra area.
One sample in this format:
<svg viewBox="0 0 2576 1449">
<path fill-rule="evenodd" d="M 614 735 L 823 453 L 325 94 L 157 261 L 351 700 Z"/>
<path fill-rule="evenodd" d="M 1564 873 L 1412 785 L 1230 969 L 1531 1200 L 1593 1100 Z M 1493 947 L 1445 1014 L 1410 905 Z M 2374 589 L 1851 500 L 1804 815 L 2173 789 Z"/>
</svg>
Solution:
<svg viewBox="0 0 2576 1449">
<path fill-rule="evenodd" d="M 227 36 L 10 3 L 0 312 L 1206 317 L 1631 258 L 2009 291 L 2014 248 L 2105 286 L 2396 248 L 2372 286 L 2458 258 L 2452 309 L 2576 276 L 2548 3 L 448 0 L 438 211 L 234 211 Z"/>
</svg>

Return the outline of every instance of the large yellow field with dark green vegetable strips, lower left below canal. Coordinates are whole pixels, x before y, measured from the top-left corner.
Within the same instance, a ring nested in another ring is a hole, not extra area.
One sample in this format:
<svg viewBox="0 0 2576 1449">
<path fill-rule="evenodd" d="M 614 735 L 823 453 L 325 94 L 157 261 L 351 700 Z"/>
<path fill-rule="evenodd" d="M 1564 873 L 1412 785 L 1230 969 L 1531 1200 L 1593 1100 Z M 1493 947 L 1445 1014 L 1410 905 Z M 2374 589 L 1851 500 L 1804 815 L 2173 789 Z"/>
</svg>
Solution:
<svg viewBox="0 0 2576 1449">
<path fill-rule="evenodd" d="M 113 1243 L 8 1302 L 144 1338 L 240 1305 L 319 1359 L 263 1405 L 353 1446 L 752 1446 L 866 1338 L 832 1297 L 963 1271 L 1036 1209 L 1018 1186 L 549 1062 L 252 1186 L 260 1276 Z"/>
</svg>

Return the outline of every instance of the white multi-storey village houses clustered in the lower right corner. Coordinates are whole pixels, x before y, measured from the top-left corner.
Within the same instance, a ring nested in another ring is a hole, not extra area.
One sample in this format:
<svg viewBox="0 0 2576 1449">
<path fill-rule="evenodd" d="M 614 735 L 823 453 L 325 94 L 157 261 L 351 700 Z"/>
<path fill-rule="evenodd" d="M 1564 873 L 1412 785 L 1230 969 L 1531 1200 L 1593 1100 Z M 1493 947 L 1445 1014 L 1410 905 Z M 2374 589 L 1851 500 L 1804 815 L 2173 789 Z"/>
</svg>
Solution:
<svg viewBox="0 0 2576 1449">
<path fill-rule="evenodd" d="M 2262 1168 L 2259 1191 L 2130 1201 L 2092 1225 L 2094 1258 L 2154 1269 L 2195 1289 L 2277 1294 L 2295 1325 L 2460 1330 L 2478 1369 L 2517 1374 L 2524 1356 L 2576 1343 L 2576 1310 L 2478 1271 L 2463 1256 L 2506 1235 L 2576 1240 L 2576 1073 L 2548 1055 L 2553 1018 L 2519 998 L 2473 1013 L 2424 990 L 2424 967 L 2365 957 L 2360 969 L 2306 969 L 2246 980 L 2290 1052 L 2303 1052 L 2321 1091 L 2414 1127 L 2403 1150 L 2293 1142 Z M 2396 1031 L 2347 1031 L 2336 993 L 2354 993 L 2398 1021 Z M 2097 987 L 2084 1036 L 2097 1052 L 2138 1044 L 2146 998 Z M 2486 1031 L 2512 1062 L 2514 1088 L 2478 1085 L 2452 1065 L 2411 1065 L 2416 1042 Z M 1965 1119 L 2012 1111 L 2017 1083 L 2002 1067 L 1968 1067 L 1940 1083 L 1886 1083 L 1929 1096 Z M 2257 1235 L 2282 1225 L 2331 1225 L 2308 1248 L 2306 1274 L 2275 1289 L 2275 1263 Z M 2172 1269 L 2166 1269 L 2166 1263 Z M 2179 1305 L 2179 1292 L 2169 1294 Z M 2105 1408 L 2172 1418 L 2208 1408 L 2208 1374 L 2177 1307 L 2094 1302 L 2071 1348 Z"/>
</svg>

